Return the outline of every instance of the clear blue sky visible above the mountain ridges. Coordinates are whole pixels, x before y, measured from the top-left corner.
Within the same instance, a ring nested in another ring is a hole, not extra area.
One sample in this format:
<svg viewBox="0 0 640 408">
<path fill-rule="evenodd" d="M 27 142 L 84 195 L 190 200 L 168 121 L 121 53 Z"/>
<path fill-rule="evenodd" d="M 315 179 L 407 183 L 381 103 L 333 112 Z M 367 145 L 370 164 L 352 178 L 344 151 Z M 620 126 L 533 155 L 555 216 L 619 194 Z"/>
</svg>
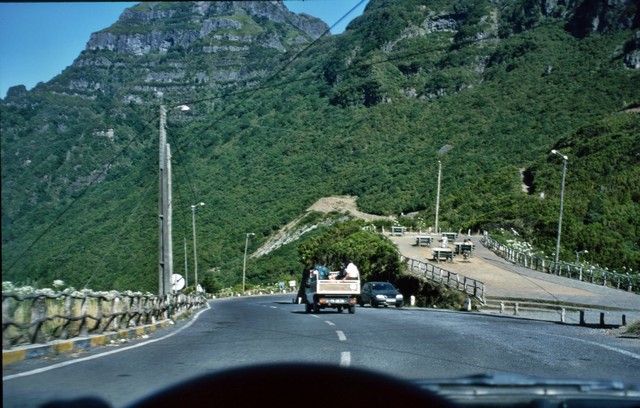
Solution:
<svg viewBox="0 0 640 408">
<path fill-rule="evenodd" d="M 0 2 L 0 98 L 7 89 L 32 89 L 71 65 L 84 50 L 91 33 L 118 20 L 124 9 L 138 2 Z M 361 3 L 331 32 L 339 34 L 364 11 L 368 0 L 285 1 L 289 10 L 306 13 L 333 26 Z"/>
</svg>

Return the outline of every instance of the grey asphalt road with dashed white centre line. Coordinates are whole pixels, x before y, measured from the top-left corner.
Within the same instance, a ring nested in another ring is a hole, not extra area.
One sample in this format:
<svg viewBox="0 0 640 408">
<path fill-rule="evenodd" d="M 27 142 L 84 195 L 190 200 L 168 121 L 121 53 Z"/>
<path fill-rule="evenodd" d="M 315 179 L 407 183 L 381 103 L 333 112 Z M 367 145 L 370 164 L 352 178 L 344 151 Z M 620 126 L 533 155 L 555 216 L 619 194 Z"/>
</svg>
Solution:
<svg viewBox="0 0 640 408">
<path fill-rule="evenodd" d="M 603 330 L 417 308 L 307 314 L 291 298 L 215 300 L 197 319 L 147 340 L 11 364 L 3 368 L 3 406 L 84 395 L 125 406 L 197 375 L 273 362 L 366 368 L 403 379 L 515 373 L 640 382 L 640 342 Z M 286 393 L 286 384 L 274 392 Z"/>
</svg>

